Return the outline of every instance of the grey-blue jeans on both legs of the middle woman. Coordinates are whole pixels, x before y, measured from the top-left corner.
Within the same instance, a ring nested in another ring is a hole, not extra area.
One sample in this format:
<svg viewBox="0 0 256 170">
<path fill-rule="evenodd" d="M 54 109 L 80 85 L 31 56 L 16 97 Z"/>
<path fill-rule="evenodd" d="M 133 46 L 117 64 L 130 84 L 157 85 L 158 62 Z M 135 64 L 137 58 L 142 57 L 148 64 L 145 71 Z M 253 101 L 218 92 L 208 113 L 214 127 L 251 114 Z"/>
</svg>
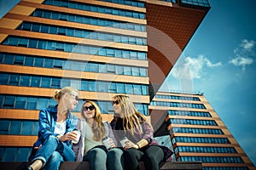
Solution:
<svg viewBox="0 0 256 170">
<path fill-rule="evenodd" d="M 90 162 L 90 170 L 122 170 L 124 169 L 123 150 L 113 148 L 107 150 L 105 146 L 99 145 L 89 150 L 83 161 Z"/>
</svg>

